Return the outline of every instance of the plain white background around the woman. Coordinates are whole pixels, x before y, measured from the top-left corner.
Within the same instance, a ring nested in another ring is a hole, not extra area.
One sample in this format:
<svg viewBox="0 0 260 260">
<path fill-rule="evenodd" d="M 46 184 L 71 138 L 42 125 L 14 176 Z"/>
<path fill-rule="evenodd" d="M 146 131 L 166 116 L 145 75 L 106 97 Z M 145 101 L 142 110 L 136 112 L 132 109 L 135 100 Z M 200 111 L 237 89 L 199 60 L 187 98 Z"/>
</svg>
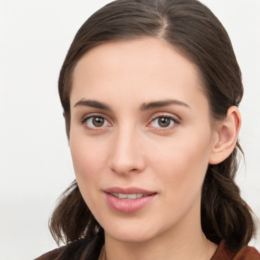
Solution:
<svg viewBox="0 0 260 260">
<path fill-rule="evenodd" d="M 56 247 L 48 218 L 74 180 L 57 79 L 82 23 L 110 1 L 0 0 L 0 260 Z M 237 181 L 260 217 L 260 1 L 203 0 L 228 30 L 243 73 Z M 260 237 L 252 241 L 260 250 Z"/>
</svg>

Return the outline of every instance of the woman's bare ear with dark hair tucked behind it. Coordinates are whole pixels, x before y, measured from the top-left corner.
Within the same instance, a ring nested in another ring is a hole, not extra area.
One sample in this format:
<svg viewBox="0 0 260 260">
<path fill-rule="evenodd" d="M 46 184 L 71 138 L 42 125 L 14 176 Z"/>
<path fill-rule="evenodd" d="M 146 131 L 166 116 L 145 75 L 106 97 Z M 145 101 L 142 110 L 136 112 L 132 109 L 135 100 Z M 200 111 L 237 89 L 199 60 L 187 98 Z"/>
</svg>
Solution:
<svg viewBox="0 0 260 260">
<path fill-rule="evenodd" d="M 225 119 L 218 123 L 214 130 L 209 164 L 219 164 L 229 157 L 236 146 L 240 127 L 240 112 L 236 106 L 232 106 L 226 112 Z"/>
</svg>

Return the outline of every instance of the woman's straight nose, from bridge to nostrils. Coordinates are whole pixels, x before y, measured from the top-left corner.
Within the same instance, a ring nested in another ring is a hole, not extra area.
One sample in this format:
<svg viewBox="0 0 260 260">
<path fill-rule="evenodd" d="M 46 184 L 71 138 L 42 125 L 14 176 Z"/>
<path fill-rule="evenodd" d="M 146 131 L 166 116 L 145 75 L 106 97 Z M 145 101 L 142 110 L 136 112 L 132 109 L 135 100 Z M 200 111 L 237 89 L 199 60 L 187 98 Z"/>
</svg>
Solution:
<svg viewBox="0 0 260 260">
<path fill-rule="evenodd" d="M 114 134 L 109 168 L 117 174 L 140 173 L 145 168 L 140 135 L 134 129 L 121 129 Z"/>
</svg>

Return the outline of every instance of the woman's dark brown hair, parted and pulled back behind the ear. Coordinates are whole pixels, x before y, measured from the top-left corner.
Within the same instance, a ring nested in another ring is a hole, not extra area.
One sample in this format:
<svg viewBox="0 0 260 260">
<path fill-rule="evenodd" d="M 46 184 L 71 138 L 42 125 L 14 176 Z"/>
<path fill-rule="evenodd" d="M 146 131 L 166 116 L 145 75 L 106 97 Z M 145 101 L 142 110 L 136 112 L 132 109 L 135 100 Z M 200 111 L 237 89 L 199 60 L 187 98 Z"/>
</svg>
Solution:
<svg viewBox="0 0 260 260">
<path fill-rule="evenodd" d="M 94 13 L 78 30 L 60 71 L 58 88 L 70 134 L 70 92 L 73 70 L 90 49 L 105 42 L 155 37 L 172 44 L 198 67 L 213 119 L 222 119 L 243 95 L 241 72 L 231 41 L 214 14 L 196 0 L 118 0 Z M 251 209 L 240 197 L 234 179 L 237 152 L 209 165 L 202 190 L 201 223 L 206 237 L 230 249 L 251 239 Z M 242 151 L 242 150 L 241 150 Z M 54 239 L 72 242 L 104 237 L 104 230 L 85 204 L 76 181 L 63 192 L 50 219 Z M 101 240 L 104 243 L 104 239 Z"/>
</svg>

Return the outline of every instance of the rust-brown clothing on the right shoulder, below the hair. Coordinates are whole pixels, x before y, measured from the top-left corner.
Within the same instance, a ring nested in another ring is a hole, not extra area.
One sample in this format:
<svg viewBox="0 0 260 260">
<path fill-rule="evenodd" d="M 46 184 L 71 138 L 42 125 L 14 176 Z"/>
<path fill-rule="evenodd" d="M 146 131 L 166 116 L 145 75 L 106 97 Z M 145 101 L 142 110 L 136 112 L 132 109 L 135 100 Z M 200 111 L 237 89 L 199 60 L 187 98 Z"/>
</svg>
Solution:
<svg viewBox="0 0 260 260">
<path fill-rule="evenodd" d="M 260 260 L 260 254 L 251 246 L 244 246 L 239 251 L 231 251 L 221 242 L 211 260 Z"/>
</svg>

